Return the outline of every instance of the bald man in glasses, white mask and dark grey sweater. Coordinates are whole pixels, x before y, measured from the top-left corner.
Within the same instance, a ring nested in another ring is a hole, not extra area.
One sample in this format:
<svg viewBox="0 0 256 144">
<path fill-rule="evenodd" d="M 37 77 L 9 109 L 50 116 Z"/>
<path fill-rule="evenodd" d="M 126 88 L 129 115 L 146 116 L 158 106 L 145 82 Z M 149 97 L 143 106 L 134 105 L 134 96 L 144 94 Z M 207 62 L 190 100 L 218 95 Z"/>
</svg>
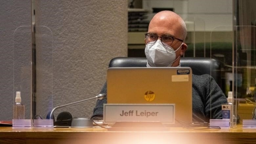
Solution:
<svg viewBox="0 0 256 144">
<path fill-rule="evenodd" d="M 185 22 L 179 15 L 167 10 L 157 13 L 150 21 L 148 32 L 145 34 L 147 67 L 180 66 L 180 57 L 187 49 L 184 43 L 186 33 Z M 181 91 L 183 89 L 181 88 Z M 100 93 L 107 93 L 106 83 Z M 106 98 L 97 101 L 91 119 L 102 120 L 103 103 L 107 103 Z M 221 119 L 221 105 L 225 103 L 225 95 L 210 75 L 193 74 L 193 121 L 209 122 L 209 119 Z"/>
</svg>

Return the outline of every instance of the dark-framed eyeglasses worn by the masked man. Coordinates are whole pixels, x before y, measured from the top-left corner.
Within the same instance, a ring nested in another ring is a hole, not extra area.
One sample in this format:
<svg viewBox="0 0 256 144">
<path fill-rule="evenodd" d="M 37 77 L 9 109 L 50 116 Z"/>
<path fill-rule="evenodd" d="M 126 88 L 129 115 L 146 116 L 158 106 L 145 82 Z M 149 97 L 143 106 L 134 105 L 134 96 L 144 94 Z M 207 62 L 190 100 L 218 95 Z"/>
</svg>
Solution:
<svg viewBox="0 0 256 144">
<path fill-rule="evenodd" d="M 172 37 L 172 36 L 168 36 L 168 35 L 166 35 L 166 36 L 157 36 L 156 34 L 153 34 L 153 33 L 145 33 L 145 36 L 146 36 L 146 41 L 150 44 L 154 44 L 159 37 L 161 38 L 162 44 L 165 45 L 165 46 L 172 45 L 174 39 L 177 39 L 177 40 L 183 42 L 183 40 L 181 40 L 181 39 L 178 39 L 178 38 L 175 38 L 175 37 Z"/>
</svg>

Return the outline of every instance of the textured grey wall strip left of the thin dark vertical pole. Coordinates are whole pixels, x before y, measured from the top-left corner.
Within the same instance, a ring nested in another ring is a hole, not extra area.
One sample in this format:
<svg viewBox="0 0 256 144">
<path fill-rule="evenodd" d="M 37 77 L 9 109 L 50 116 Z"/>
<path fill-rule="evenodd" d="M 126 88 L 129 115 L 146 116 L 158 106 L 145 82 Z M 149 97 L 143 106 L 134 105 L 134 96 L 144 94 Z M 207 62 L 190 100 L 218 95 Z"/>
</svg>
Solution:
<svg viewBox="0 0 256 144">
<path fill-rule="evenodd" d="M 31 29 L 20 26 L 31 26 L 31 0 L 2 0 L 0 5 L 0 120 L 12 119 L 15 91 L 21 91 L 22 103 L 26 105 L 25 118 L 30 118 Z M 14 47 L 15 59 L 13 59 Z M 13 73 L 14 63 L 15 73 Z"/>
</svg>

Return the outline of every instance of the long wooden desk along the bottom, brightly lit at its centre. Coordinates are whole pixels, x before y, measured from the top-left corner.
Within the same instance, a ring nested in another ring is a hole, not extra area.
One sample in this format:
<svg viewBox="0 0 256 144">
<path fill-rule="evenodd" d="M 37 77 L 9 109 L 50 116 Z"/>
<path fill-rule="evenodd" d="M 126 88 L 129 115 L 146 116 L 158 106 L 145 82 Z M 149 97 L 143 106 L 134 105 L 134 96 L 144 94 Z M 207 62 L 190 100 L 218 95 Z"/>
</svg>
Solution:
<svg viewBox="0 0 256 144">
<path fill-rule="evenodd" d="M 170 128 L 167 132 L 111 132 L 103 128 L 12 129 L 0 127 L 0 143 L 255 143 L 256 129 L 192 130 Z"/>
</svg>

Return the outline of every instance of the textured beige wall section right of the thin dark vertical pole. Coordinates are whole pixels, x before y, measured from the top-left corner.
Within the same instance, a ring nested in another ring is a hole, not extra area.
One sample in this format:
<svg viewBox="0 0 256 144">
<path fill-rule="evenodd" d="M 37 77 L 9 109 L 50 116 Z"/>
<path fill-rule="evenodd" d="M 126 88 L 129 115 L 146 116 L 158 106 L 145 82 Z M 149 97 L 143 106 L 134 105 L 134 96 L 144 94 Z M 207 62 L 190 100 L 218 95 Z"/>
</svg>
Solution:
<svg viewBox="0 0 256 144">
<path fill-rule="evenodd" d="M 37 0 L 35 24 L 48 27 L 53 34 L 53 107 L 97 95 L 105 82 L 110 59 L 127 56 L 126 0 Z M 40 32 L 36 31 L 41 35 Z M 42 47 L 45 45 L 37 45 L 36 49 Z M 38 75 L 37 83 L 49 84 L 49 75 Z M 37 113 L 41 115 L 51 105 L 43 85 L 37 87 Z M 95 103 L 92 100 L 60 108 L 54 115 L 68 111 L 73 117 L 90 118 Z"/>
</svg>

